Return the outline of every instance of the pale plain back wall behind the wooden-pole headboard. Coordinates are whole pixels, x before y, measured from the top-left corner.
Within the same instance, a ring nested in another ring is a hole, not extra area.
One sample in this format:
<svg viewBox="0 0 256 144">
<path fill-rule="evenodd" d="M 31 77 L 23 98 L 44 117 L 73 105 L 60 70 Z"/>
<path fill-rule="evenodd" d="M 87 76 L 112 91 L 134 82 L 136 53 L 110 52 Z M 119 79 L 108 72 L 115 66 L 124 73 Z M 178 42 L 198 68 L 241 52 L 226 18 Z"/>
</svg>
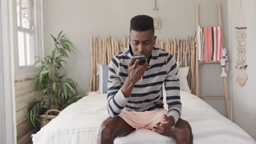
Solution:
<svg viewBox="0 0 256 144">
<path fill-rule="evenodd" d="M 159 39 L 185 38 L 195 34 L 195 4 L 200 4 L 200 24 L 202 26 L 217 26 L 218 4 L 223 8 L 224 43 L 228 45 L 228 3 L 223 0 L 161 0 L 158 1 L 159 16 L 162 19 Z M 90 80 L 90 35 L 101 38 L 112 35 L 121 41 L 123 34 L 129 34 L 131 17 L 138 14 L 153 16 L 154 1 L 149 0 L 93 0 L 68 1 L 44 0 L 44 51 L 45 55 L 53 50 L 53 40 L 50 33 L 57 35 L 64 30 L 73 41 L 78 51 L 67 60 L 63 73 L 78 82 L 80 92 L 89 91 Z M 223 80 L 220 79 L 220 65 L 202 65 L 202 79 L 210 79 L 201 83 L 202 94 L 223 94 Z M 212 88 L 214 86 L 214 89 Z M 208 98 L 206 100 L 220 113 L 226 116 L 223 98 Z"/>
</svg>

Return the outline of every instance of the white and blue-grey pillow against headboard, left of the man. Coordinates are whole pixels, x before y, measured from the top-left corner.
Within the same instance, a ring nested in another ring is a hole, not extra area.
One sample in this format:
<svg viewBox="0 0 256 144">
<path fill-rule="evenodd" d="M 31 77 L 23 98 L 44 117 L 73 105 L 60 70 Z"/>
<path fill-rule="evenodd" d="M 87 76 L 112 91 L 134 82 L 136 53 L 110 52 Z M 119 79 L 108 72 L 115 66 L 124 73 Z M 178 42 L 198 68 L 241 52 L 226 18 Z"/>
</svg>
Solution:
<svg viewBox="0 0 256 144">
<path fill-rule="evenodd" d="M 108 65 L 97 64 L 99 91 L 100 93 L 108 92 Z"/>
</svg>

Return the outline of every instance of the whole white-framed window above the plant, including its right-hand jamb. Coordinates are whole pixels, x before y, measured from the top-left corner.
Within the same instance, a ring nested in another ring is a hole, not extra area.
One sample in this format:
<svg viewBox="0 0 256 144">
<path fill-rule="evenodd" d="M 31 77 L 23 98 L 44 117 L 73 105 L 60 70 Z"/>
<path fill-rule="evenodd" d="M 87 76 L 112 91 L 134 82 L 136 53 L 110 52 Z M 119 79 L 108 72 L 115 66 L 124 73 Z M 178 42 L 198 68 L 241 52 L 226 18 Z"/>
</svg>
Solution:
<svg viewBox="0 0 256 144">
<path fill-rule="evenodd" d="M 16 0 L 18 65 L 33 65 L 40 57 L 40 7 L 38 0 Z"/>
</svg>

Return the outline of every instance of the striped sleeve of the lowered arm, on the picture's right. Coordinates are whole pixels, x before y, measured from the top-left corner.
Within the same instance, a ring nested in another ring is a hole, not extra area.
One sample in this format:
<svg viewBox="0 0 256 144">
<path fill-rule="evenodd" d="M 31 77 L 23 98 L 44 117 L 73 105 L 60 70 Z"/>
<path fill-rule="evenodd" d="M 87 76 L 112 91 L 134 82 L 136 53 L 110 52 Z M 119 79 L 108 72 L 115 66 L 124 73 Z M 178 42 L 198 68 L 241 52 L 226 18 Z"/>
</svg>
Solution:
<svg viewBox="0 0 256 144">
<path fill-rule="evenodd" d="M 181 117 L 181 87 L 178 79 L 178 66 L 171 55 L 167 58 L 167 76 L 165 79 L 166 103 L 168 105 L 167 116 L 173 116 L 175 123 Z"/>
</svg>

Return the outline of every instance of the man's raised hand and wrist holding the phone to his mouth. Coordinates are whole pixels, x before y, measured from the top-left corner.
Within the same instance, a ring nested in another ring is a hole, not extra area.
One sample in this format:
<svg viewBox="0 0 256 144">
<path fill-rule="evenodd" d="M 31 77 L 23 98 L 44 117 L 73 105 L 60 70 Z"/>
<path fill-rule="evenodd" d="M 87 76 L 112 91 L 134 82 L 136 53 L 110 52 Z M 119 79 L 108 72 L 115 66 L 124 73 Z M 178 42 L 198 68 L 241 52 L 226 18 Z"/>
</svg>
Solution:
<svg viewBox="0 0 256 144">
<path fill-rule="evenodd" d="M 124 82 L 124 85 L 121 88 L 121 91 L 123 92 L 126 98 L 130 97 L 133 86 L 139 79 L 141 79 L 146 69 L 148 68 L 147 59 L 143 65 L 138 65 L 138 62 L 139 62 L 139 59 L 137 59 L 135 63 L 132 65 L 131 59 L 129 61 L 129 65 L 128 65 L 129 74 L 127 79 Z"/>
</svg>

